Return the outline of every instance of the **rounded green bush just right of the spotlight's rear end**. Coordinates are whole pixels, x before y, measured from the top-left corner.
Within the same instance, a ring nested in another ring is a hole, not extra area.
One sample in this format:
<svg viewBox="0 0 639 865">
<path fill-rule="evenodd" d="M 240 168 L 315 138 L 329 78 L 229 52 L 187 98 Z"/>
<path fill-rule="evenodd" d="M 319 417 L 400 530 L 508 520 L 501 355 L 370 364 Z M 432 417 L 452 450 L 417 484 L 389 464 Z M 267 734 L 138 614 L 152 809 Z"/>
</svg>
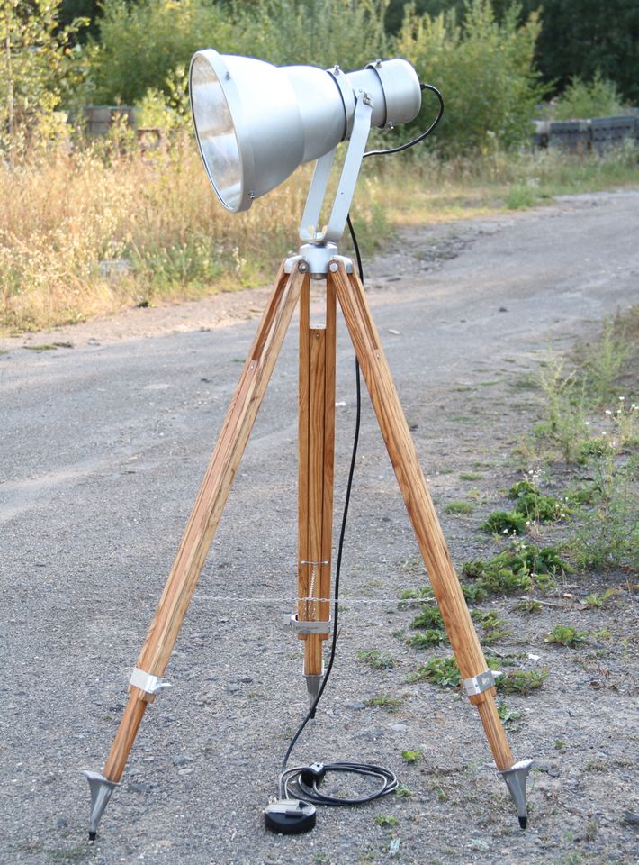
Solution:
<svg viewBox="0 0 639 865">
<path fill-rule="evenodd" d="M 447 154 L 512 148 L 527 141 L 542 96 L 534 65 L 539 17 L 518 23 L 513 5 L 497 21 L 490 0 L 472 0 L 437 17 L 407 9 L 397 41 L 419 76 L 446 101 L 437 141 Z"/>
</svg>

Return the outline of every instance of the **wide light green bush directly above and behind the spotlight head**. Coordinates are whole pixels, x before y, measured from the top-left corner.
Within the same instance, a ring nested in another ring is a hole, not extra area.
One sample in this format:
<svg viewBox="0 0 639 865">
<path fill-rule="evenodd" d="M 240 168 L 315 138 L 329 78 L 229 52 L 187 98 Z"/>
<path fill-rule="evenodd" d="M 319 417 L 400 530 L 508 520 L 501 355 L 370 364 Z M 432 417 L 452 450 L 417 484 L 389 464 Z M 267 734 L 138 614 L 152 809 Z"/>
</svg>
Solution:
<svg viewBox="0 0 639 865">
<path fill-rule="evenodd" d="M 167 79 L 202 48 L 277 65 L 360 68 L 385 53 L 387 5 L 388 0 L 105 0 L 93 98 L 133 105 L 148 90 L 170 96 Z"/>
</svg>

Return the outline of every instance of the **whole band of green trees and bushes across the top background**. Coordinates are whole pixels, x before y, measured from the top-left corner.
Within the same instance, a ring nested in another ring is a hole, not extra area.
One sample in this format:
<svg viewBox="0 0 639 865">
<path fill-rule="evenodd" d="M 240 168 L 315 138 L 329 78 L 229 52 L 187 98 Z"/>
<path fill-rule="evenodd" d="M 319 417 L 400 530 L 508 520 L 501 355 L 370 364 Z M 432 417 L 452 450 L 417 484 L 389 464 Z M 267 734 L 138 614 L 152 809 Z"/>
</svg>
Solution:
<svg viewBox="0 0 639 865">
<path fill-rule="evenodd" d="M 187 122 L 189 59 L 207 46 L 278 65 L 361 68 L 376 57 L 406 57 L 445 96 L 434 141 L 446 156 L 511 150 L 528 140 L 549 91 L 539 62 L 546 79 L 552 70 L 566 87 L 555 116 L 617 111 L 628 95 L 639 96 L 636 64 L 629 72 L 626 63 L 639 51 L 636 0 L 546 0 L 543 14 L 536 5 L 0 0 L 0 147 L 6 150 L 10 142 L 15 148 L 30 130 L 46 140 L 59 121 L 57 109 L 87 104 L 141 105 L 143 123 L 175 128 Z M 606 26 L 600 6 L 606 7 Z M 557 65 L 559 58 L 571 58 L 569 66 Z M 428 107 L 416 126 L 428 122 L 426 114 Z"/>
</svg>

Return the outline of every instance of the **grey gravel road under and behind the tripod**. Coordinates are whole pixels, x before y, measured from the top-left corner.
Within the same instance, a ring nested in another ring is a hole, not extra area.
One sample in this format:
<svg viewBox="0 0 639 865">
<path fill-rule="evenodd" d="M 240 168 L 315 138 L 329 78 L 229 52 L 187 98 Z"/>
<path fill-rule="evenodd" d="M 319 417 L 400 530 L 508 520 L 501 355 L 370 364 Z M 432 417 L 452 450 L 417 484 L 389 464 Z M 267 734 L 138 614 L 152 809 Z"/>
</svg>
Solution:
<svg viewBox="0 0 639 865">
<path fill-rule="evenodd" d="M 375 320 L 440 505 L 459 497 L 459 473 L 480 463 L 485 513 L 498 488 L 518 479 L 510 455 L 538 417 L 538 397 L 517 382 L 549 347 L 570 348 L 639 301 L 637 225 L 639 192 L 565 197 L 404 232 L 366 263 Z M 0 342 L 0 861 L 635 862 L 637 825 L 626 812 L 639 811 L 639 730 L 622 675 L 632 647 L 625 660 L 619 648 L 618 675 L 610 661 L 615 687 L 590 687 L 595 674 L 574 652 L 540 638 L 554 620 L 531 630 L 509 614 L 509 651 L 551 669 L 542 690 L 509 701 L 520 713 L 507 729 L 513 751 L 540 766 L 527 833 L 473 708 L 454 692 L 406 684 L 419 659 L 393 636 L 410 623 L 393 599 L 419 582 L 417 547 L 368 405 L 338 660 L 293 761 L 387 765 L 413 797 L 321 809 L 301 837 L 266 833 L 261 812 L 307 705 L 302 651 L 281 624 L 295 583 L 294 327 L 167 671 L 174 687 L 149 708 L 98 841 L 86 843 L 80 771 L 100 769 L 111 745 L 265 298 L 257 290 L 140 309 Z M 339 517 L 355 409 L 343 327 L 338 368 Z M 442 522 L 456 563 L 489 549 L 477 514 Z M 618 630 L 629 604 L 591 621 Z M 367 668 L 356 652 L 371 648 L 392 651 L 398 666 Z M 399 711 L 367 706 L 379 694 L 401 697 Z M 423 751 L 421 762 L 402 762 L 406 749 Z M 397 823 L 380 825 L 380 815 Z"/>
</svg>

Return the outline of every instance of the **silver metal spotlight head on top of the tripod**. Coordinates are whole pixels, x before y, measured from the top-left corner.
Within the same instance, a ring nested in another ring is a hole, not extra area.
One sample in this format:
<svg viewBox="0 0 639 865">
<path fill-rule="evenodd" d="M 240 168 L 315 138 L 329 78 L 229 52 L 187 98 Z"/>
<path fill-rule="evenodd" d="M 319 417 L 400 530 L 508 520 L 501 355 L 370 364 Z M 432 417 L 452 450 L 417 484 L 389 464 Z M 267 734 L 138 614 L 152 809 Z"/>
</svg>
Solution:
<svg viewBox="0 0 639 865">
<path fill-rule="evenodd" d="M 346 74 L 205 49 L 193 56 L 189 85 L 204 168 L 233 213 L 347 140 L 361 93 L 370 96 L 374 126 L 408 123 L 421 105 L 417 74 L 402 59 Z"/>
</svg>

